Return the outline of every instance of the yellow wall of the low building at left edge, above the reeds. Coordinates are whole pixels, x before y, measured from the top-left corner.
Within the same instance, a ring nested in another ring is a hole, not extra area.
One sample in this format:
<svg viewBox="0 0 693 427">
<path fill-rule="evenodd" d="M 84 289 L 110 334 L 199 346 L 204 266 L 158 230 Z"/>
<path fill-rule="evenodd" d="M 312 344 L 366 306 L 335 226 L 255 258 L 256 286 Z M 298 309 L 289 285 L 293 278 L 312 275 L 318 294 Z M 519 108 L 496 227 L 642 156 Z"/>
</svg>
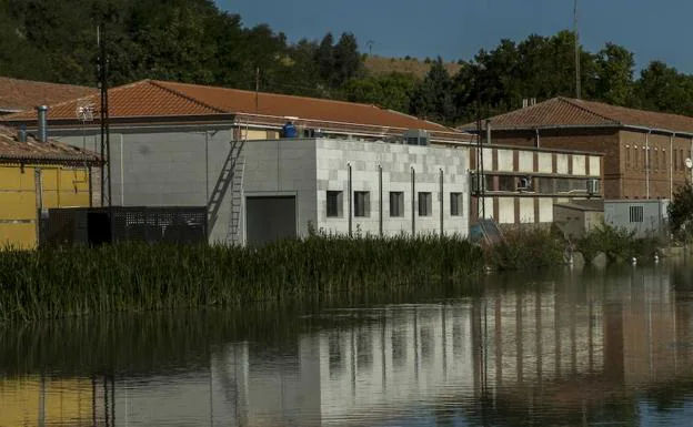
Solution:
<svg viewBox="0 0 693 427">
<path fill-rule="evenodd" d="M 0 165 L 0 247 L 37 245 L 36 170 L 41 171 L 44 209 L 89 206 L 86 167 Z"/>
</svg>

